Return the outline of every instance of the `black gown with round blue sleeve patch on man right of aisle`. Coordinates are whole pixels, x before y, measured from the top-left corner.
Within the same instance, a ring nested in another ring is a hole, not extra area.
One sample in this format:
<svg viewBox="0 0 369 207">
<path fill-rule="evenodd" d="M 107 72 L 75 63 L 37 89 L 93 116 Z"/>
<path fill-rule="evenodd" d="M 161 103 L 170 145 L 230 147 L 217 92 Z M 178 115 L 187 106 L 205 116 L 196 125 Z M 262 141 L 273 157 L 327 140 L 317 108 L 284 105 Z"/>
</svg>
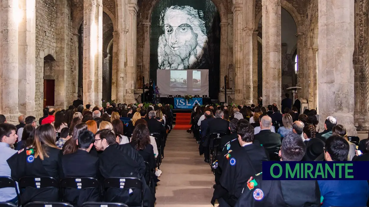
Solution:
<svg viewBox="0 0 369 207">
<path fill-rule="evenodd" d="M 248 158 L 250 157 L 252 166 Z M 211 203 L 215 199 L 223 198 L 230 206 L 234 206 L 242 193 L 247 180 L 254 172 L 262 172 L 262 161 L 268 161 L 265 150 L 260 145 L 249 144 L 226 155 L 227 161 L 223 163 L 220 185 L 214 189 Z M 254 170 L 255 169 L 255 170 Z"/>
</svg>

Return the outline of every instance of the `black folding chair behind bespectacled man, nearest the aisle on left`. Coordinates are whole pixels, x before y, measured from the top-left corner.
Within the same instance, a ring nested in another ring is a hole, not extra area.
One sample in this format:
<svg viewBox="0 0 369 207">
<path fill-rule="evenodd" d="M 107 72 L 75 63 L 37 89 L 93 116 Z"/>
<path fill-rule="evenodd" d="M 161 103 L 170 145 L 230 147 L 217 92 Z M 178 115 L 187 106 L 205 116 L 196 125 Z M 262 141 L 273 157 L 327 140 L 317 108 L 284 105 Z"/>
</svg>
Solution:
<svg viewBox="0 0 369 207">
<path fill-rule="evenodd" d="M 140 189 L 141 190 L 141 207 L 144 206 L 144 183 L 141 179 L 132 178 L 132 177 L 123 177 L 123 178 L 107 178 L 104 180 L 104 190 L 108 188 L 115 189 Z"/>
</svg>

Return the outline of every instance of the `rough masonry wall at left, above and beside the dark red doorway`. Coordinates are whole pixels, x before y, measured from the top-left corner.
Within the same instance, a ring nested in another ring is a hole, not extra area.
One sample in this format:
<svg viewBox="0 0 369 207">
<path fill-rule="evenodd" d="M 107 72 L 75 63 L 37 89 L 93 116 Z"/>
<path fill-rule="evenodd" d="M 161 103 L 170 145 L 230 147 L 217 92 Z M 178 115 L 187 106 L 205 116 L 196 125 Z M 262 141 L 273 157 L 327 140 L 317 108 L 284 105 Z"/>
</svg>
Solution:
<svg viewBox="0 0 369 207">
<path fill-rule="evenodd" d="M 36 0 L 36 117 L 42 116 L 44 106 L 44 57 L 56 59 L 56 8 L 55 0 Z"/>
</svg>

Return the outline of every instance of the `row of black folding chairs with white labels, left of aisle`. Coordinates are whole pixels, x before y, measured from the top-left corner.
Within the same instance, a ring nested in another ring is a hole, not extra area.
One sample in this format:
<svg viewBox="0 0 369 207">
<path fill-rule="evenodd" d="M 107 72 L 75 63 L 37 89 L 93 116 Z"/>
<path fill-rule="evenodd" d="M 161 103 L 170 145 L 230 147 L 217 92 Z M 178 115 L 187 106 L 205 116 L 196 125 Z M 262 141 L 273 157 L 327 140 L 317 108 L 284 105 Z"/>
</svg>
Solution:
<svg viewBox="0 0 369 207">
<path fill-rule="evenodd" d="M 23 189 L 26 187 L 32 187 L 34 189 L 43 189 L 43 188 L 56 188 L 59 190 L 60 201 L 65 201 L 63 196 L 63 189 L 87 189 L 93 188 L 97 189 L 100 192 L 100 187 L 103 189 L 103 193 L 106 195 L 107 189 L 115 188 L 115 189 L 139 189 L 141 191 L 141 207 L 143 206 L 143 197 L 144 197 L 144 186 L 141 179 L 134 177 L 124 177 L 124 178 L 107 178 L 100 183 L 95 178 L 85 178 L 85 177 L 66 177 L 60 180 L 56 180 L 52 177 L 23 177 L 19 180 L 18 186 L 20 191 L 18 192 L 18 188 L 14 179 L 8 176 L 0 176 L 0 189 L 5 187 L 15 188 L 15 192 L 17 193 L 18 198 L 18 207 L 21 204 L 21 194 L 23 193 Z M 155 187 L 155 186 L 154 186 Z M 101 196 L 104 197 L 104 196 Z M 49 206 L 51 207 L 51 206 Z"/>
</svg>

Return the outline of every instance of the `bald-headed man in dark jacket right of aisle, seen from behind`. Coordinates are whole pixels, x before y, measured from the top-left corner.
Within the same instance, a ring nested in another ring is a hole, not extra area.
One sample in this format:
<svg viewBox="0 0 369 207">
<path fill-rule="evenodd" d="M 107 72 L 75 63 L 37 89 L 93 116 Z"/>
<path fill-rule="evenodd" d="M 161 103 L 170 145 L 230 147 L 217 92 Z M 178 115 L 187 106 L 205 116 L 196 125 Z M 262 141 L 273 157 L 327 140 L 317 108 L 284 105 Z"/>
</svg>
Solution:
<svg viewBox="0 0 369 207">
<path fill-rule="evenodd" d="M 260 122 L 260 132 L 255 134 L 254 140 L 259 141 L 260 145 L 268 151 L 268 153 L 279 152 L 281 145 L 280 134 L 270 131 L 272 127 L 272 118 L 263 116 Z"/>
</svg>

